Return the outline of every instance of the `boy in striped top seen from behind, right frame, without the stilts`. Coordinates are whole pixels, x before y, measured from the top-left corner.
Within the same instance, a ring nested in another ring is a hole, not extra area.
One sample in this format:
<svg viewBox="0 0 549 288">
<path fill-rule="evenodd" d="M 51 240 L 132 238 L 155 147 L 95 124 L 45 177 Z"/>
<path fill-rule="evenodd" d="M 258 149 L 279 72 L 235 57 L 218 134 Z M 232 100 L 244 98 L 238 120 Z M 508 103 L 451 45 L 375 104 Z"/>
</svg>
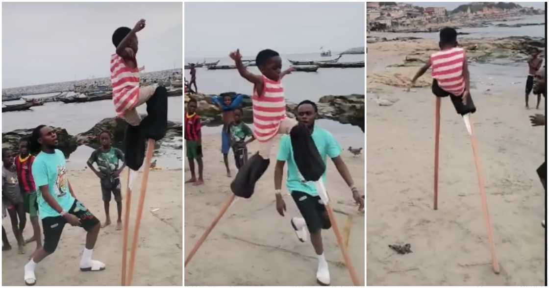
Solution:
<svg viewBox="0 0 549 288">
<path fill-rule="evenodd" d="M 458 114 L 474 113 L 477 109 L 470 95 L 467 57 L 465 50 L 457 47 L 457 31 L 450 27 L 440 30 L 439 47 L 440 51 L 433 53 L 413 77 L 410 87 L 432 67 L 433 94 L 436 97 L 450 96 Z"/>
</svg>

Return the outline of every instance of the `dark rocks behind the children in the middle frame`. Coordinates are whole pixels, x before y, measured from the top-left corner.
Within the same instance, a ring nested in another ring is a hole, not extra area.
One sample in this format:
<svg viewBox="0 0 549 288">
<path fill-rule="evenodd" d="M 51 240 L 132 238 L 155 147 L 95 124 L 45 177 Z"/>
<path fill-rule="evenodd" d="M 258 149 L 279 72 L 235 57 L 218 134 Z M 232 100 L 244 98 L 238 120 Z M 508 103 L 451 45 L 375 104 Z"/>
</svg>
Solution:
<svg viewBox="0 0 549 288">
<path fill-rule="evenodd" d="M 226 93 L 222 93 L 225 95 Z M 228 95 L 236 94 L 234 92 Z M 204 126 L 219 126 L 222 125 L 221 110 L 212 104 L 211 98 L 213 95 L 193 94 L 186 95 L 185 102 L 191 97 L 197 100 L 198 114 L 201 117 L 202 125 Z M 297 104 L 288 103 L 286 105 L 287 115 L 295 117 L 295 107 Z M 359 126 L 364 131 L 364 95 L 327 95 L 318 100 L 318 117 L 330 119 L 344 124 Z M 251 98 L 245 97 L 243 100 L 243 121 L 246 123 L 253 122 L 253 112 L 251 108 Z"/>
</svg>

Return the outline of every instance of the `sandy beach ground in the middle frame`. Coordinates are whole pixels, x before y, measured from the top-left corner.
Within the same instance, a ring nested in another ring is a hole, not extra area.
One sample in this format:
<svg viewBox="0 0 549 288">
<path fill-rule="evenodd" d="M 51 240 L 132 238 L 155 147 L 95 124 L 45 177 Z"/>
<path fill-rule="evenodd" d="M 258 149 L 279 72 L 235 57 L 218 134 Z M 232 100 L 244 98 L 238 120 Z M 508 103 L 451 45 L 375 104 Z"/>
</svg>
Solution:
<svg viewBox="0 0 549 288">
<path fill-rule="evenodd" d="M 221 127 L 219 127 L 221 131 Z M 225 175 L 219 134 L 203 138 L 205 184 L 185 184 L 185 254 L 209 226 L 223 202 L 232 194 L 233 178 Z M 256 151 L 256 143 L 249 145 Z M 273 186 L 274 161 L 277 149 L 271 152 L 271 165 L 257 182 L 250 199 L 238 199 L 212 230 L 192 261 L 185 268 L 185 285 L 316 285 L 317 259 L 310 241 L 299 242 L 290 219 L 299 216 L 291 196 L 284 196 L 287 213 L 279 216 L 275 207 Z M 364 158 L 349 151 L 341 154 L 348 165 L 357 188 L 363 191 Z M 231 170 L 236 174 L 232 152 Z M 364 214 L 357 212 L 349 188 L 328 160 L 327 189 L 334 209 L 352 215 L 349 253 L 361 284 L 364 284 Z M 185 179 L 189 179 L 185 162 Z M 286 170 L 284 171 L 286 173 Z M 285 181 L 285 174 L 284 174 Z M 283 185 L 285 193 L 285 185 Z M 347 216 L 335 213 L 343 230 Z M 323 230 L 324 254 L 329 263 L 332 285 L 352 285 L 348 270 L 341 267 L 341 253 L 332 230 Z"/>
</svg>

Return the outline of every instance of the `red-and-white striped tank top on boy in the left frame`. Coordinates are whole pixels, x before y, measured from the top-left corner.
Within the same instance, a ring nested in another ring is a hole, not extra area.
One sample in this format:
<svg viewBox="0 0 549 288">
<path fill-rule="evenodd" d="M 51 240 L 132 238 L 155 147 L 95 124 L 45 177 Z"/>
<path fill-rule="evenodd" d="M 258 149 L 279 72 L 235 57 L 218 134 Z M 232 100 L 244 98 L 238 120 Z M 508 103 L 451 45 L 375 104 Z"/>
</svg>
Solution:
<svg viewBox="0 0 549 288">
<path fill-rule="evenodd" d="M 116 115 L 124 116 L 135 108 L 139 99 L 139 68 L 130 69 L 118 54 L 110 57 L 110 80 L 113 85 L 113 103 Z"/>
</svg>

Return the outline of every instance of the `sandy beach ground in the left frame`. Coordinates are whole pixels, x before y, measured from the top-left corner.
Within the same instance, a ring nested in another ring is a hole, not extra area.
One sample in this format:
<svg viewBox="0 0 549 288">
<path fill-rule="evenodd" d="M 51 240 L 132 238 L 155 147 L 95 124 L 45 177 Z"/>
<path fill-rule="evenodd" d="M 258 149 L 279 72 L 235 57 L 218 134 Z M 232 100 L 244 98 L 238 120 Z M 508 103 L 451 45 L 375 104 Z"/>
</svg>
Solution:
<svg viewBox="0 0 549 288">
<path fill-rule="evenodd" d="M 68 163 L 70 165 L 70 162 Z M 89 169 L 69 170 L 69 179 L 75 194 L 92 213 L 104 221 L 105 213 L 99 180 Z M 121 183 L 126 183 L 127 172 L 122 172 Z M 138 173 L 135 192 L 132 195 L 130 218 L 131 247 L 133 227 L 141 187 L 142 173 Z M 143 218 L 139 229 L 139 244 L 133 285 L 139 286 L 181 286 L 182 285 L 182 194 L 181 170 L 153 170 L 149 183 Z M 125 188 L 122 190 L 126 196 Z M 123 199 L 125 202 L 125 200 Z M 156 210 L 159 208 L 159 210 Z M 154 212 L 153 212 L 154 211 Z M 124 210 L 123 210 L 124 213 Z M 36 285 L 44 286 L 118 286 L 121 281 L 122 231 L 116 231 L 116 202 L 110 202 L 110 216 L 113 224 L 99 232 L 93 258 L 107 264 L 102 272 L 80 272 L 78 265 L 85 243 L 86 232 L 78 227 L 66 225 L 57 250 L 36 268 Z M 13 235 L 9 216 L 3 220 L 11 251 L 2 252 L 2 285 L 24 285 L 23 266 L 35 249 L 35 243 L 26 245 L 25 255 L 17 253 L 17 242 Z M 42 224 L 41 224 L 42 225 Z M 24 238 L 32 236 L 30 221 L 24 230 Z M 128 258 L 129 258 L 128 249 Z M 60 271 L 66 273 L 60 274 Z"/>
</svg>

